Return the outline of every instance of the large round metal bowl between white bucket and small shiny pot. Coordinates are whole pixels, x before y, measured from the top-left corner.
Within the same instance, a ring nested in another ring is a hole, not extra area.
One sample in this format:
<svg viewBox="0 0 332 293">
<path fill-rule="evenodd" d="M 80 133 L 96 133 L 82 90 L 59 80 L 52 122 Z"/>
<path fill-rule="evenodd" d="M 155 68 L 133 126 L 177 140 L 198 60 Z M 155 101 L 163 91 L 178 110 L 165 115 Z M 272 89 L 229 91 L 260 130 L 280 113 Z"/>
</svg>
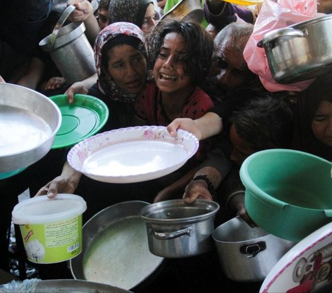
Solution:
<svg viewBox="0 0 332 293">
<path fill-rule="evenodd" d="M 164 258 L 149 251 L 145 222 L 138 212 L 142 201 L 113 204 L 83 226 L 82 253 L 70 260 L 75 279 L 131 290 L 142 285 Z"/>
</svg>

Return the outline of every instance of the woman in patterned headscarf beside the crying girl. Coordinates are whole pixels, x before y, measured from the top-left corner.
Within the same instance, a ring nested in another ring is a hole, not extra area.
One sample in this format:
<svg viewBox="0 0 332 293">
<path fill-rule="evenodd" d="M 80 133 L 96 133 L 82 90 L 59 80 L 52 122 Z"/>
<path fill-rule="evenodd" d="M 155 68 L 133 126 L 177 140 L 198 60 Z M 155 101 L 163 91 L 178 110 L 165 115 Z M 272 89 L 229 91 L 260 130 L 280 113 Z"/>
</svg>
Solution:
<svg viewBox="0 0 332 293">
<path fill-rule="evenodd" d="M 108 130 L 126 127 L 133 116 L 133 102 L 147 80 L 147 49 L 142 30 L 116 22 L 100 32 L 94 55 L 98 80 L 88 94 L 109 107 Z M 126 59 L 127 58 L 127 59 Z M 128 65 L 132 71 L 126 71 Z"/>
</svg>

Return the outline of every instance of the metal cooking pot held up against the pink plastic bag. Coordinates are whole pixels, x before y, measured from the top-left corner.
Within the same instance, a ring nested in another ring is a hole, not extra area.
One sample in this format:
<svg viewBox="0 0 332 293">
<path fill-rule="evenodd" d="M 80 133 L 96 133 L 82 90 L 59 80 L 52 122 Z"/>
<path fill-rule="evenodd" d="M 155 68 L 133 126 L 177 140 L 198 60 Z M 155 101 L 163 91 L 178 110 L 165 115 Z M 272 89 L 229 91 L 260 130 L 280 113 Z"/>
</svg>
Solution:
<svg viewBox="0 0 332 293">
<path fill-rule="evenodd" d="M 257 46 L 264 46 L 276 82 L 300 82 L 332 71 L 331 32 L 326 15 L 266 33 Z"/>
</svg>

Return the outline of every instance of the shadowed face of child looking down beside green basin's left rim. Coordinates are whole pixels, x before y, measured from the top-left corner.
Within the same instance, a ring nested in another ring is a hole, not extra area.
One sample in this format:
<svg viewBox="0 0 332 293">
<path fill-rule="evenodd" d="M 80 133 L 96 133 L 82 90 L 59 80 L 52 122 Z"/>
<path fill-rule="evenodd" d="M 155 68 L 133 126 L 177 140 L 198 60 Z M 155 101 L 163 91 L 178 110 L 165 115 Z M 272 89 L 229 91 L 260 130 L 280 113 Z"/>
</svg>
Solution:
<svg viewBox="0 0 332 293">
<path fill-rule="evenodd" d="M 255 150 L 252 150 L 246 141 L 241 139 L 241 136 L 237 133 L 234 124 L 230 127 L 230 141 L 233 145 L 232 154 L 230 155 L 230 160 L 241 166 L 243 161 L 247 159 L 250 154 L 253 154 Z"/>
</svg>

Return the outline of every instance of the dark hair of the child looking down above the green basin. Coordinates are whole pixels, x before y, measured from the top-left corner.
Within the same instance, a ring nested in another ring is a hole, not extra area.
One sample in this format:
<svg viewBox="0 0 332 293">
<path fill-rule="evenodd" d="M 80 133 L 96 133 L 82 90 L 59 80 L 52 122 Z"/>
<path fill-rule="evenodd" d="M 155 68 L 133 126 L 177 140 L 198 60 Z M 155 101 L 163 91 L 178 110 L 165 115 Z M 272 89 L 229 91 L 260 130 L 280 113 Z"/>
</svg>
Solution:
<svg viewBox="0 0 332 293">
<path fill-rule="evenodd" d="M 288 147 L 293 113 L 286 98 L 260 96 L 232 116 L 237 134 L 252 150 Z"/>
</svg>

